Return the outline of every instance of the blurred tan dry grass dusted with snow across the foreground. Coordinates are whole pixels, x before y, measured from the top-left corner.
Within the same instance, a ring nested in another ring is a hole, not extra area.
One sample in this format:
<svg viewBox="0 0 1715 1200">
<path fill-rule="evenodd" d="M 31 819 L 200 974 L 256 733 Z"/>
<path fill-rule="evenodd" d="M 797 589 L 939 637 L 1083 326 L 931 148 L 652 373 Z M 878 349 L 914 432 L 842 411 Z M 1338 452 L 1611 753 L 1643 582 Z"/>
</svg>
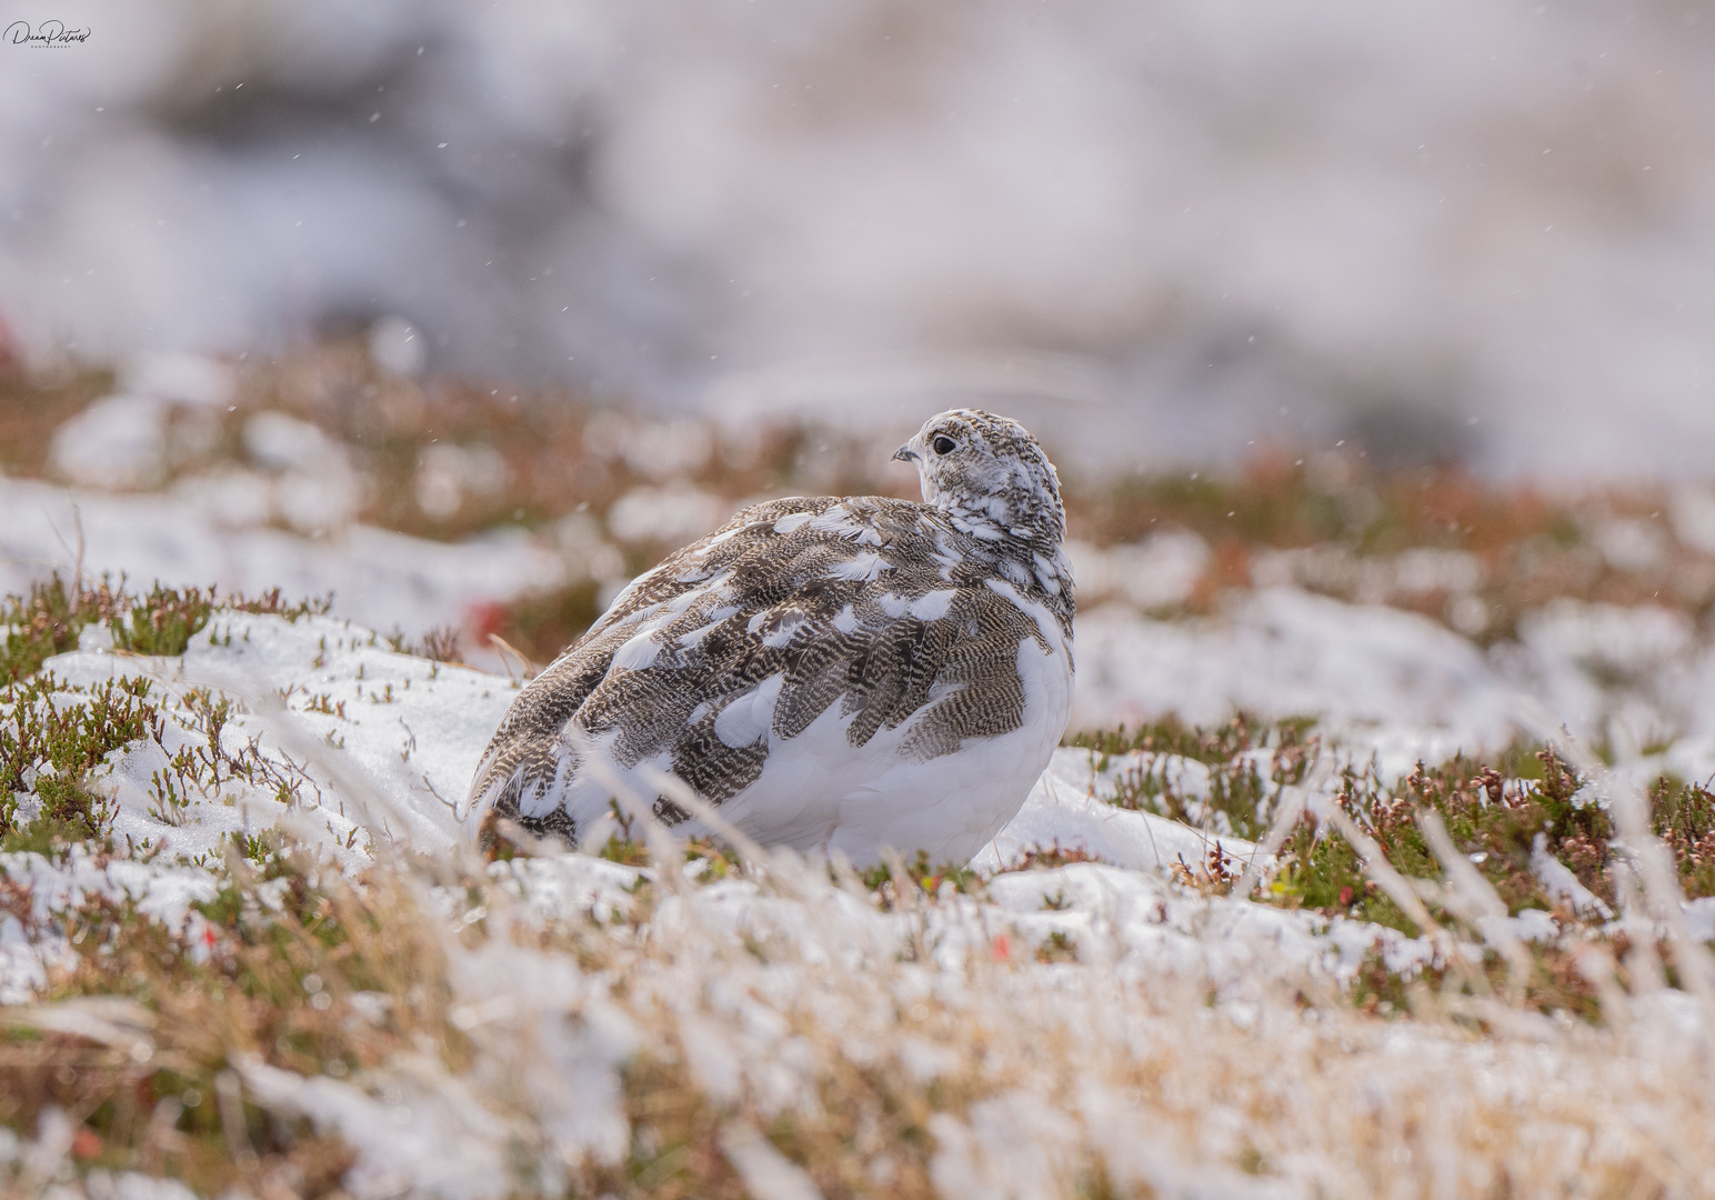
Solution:
<svg viewBox="0 0 1715 1200">
<path fill-rule="evenodd" d="M 81 1173 L 206 1195 L 374 1183 L 400 1106 L 506 1164 L 394 1167 L 444 1195 L 756 1195 L 746 1131 L 828 1198 L 1691 1195 L 1715 1167 L 1706 1018 L 1636 980 L 1592 1025 L 1384 973 L 1401 1023 L 1317 970 L 1140 960 L 1120 927 L 1008 944 L 952 888 L 590 862 L 346 881 L 232 853 L 194 941 L 125 905 L 57 917 L 74 955 L 12 1015 L 3 1119 L 63 1111 Z M 316 1078 L 377 1124 L 292 1083 Z"/>
</svg>

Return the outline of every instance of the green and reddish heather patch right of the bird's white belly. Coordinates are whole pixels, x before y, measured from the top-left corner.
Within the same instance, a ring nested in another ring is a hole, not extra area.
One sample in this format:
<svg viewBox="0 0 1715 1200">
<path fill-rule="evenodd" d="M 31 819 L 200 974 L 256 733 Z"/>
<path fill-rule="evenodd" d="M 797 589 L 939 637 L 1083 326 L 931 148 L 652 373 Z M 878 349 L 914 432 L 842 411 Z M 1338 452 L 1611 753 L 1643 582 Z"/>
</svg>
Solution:
<svg viewBox="0 0 1715 1200">
<path fill-rule="evenodd" d="M 1115 807 L 1255 841 L 1269 829 L 1281 786 L 1302 783 L 1322 752 L 1312 728 L 1303 719 L 1259 723 L 1238 716 L 1211 730 L 1166 719 L 1137 730 L 1080 735 L 1074 745 L 1091 750 L 1096 769 L 1108 779 L 1104 795 Z M 1183 771 L 1175 769 L 1178 759 L 1207 767 L 1206 793 L 1187 793 L 1180 783 Z M 1540 908 L 1578 922 L 1593 905 L 1586 901 L 1586 912 L 1576 912 L 1564 894 L 1550 894 L 1533 860 L 1538 853 L 1547 855 L 1564 865 L 1593 901 L 1617 908 L 1610 846 L 1616 831 L 1607 810 L 1580 795 L 1581 786 L 1583 779 L 1554 747 L 1518 742 L 1492 762 L 1470 755 L 1435 766 L 1420 762 L 1393 790 L 1370 771 L 1346 766 L 1334 803 L 1406 879 L 1441 879 L 1444 874 L 1420 829 L 1420 815 L 1434 812 L 1509 913 Z M 1715 894 L 1715 793 L 1662 776 L 1648 800 L 1655 834 L 1672 853 L 1679 886 L 1689 898 Z M 1259 898 L 1417 932 L 1394 901 L 1369 881 L 1345 836 L 1314 812 L 1288 831 L 1279 862 L 1279 872 Z"/>
</svg>

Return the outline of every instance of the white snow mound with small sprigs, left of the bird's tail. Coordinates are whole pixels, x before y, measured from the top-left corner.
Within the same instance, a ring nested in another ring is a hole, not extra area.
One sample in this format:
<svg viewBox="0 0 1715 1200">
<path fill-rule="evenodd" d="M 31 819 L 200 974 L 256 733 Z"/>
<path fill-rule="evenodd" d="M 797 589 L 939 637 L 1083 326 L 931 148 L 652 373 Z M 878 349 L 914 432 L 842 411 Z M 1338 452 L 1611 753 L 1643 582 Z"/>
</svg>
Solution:
<svg viewBox="0 0 1715 1200">
<path fill-rule="evenodd" d="M 465 791 L 518 688 L 504 676 L 394 654 L 348 621 L 305 616 L 288 623 L 247 613 L 216 616 L 178 659 L 77 651 L 48 659 L 43 670 L 74 685 L 142 676 L 172 697 L 213 687 L 250 709 L 228 719 L 221 742 L 237 752 L 259 738 L 292 779 L 305 783 L 295 805 L 228 779 L 216 797 L 194 802 L 180 824 L 163 826 L 151 812 L 158 807 L 151 776 L 180 742 L 194 740 L 177 723 L 165 747 L 135 743 L 113 766 L 115 836 L 139 845 L 147 838 L 192 858 L 214 852 L 233 831 L 266 829 L 288 814 L 295 833 L 328 843 L 348 862 L 346 843 L 367 843 L 372 829 L 401 846 L 448 850 L 468 836 Z M 329 767 L 352 774 L 334 781 Z"/>
</svg>

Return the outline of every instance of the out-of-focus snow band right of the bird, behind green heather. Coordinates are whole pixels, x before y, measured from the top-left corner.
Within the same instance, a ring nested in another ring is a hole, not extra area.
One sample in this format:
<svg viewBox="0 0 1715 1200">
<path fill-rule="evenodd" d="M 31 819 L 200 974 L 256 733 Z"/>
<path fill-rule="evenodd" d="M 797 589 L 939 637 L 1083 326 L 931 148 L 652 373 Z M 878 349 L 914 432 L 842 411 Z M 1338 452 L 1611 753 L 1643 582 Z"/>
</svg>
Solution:
<svg viewBox="0 0 1715 1200">
<path fill-rule="evenodd" d="M 1622 757 L 1715 733 L 1706 637 L 1648 604 L 1557 599 L 1521 618 L 1518 642 L 1483 651 L 1415 613 L 1264 587 L 1230 592 L 1206 618 L 1152 620 L 1116 604 L 1082 613 L 1077 656 L 1074 726 L 1314 716 L 1374 750 L 1386 778 L 1554 724 Z M 1544 716 L 1554 724 L 1540 728 Z"/>
</svg>

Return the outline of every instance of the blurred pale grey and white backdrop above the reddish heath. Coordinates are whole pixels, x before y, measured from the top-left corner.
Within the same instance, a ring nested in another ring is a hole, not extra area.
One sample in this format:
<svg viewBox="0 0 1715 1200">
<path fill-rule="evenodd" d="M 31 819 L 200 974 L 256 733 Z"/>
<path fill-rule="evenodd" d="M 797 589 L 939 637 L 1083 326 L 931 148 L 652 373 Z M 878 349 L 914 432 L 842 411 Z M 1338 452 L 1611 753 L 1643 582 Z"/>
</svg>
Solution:
<svg viewBox="0 0 1715 1200">
<path fill-rule="evenodd" d="M 1706 477 L 1684 2 L 3 0 L 7 352 Z M 1048 415 L 1051 414 L 1051 415 Z M 1067 450 L 1072 453 L 1072 450 Z"/>
</svg>

